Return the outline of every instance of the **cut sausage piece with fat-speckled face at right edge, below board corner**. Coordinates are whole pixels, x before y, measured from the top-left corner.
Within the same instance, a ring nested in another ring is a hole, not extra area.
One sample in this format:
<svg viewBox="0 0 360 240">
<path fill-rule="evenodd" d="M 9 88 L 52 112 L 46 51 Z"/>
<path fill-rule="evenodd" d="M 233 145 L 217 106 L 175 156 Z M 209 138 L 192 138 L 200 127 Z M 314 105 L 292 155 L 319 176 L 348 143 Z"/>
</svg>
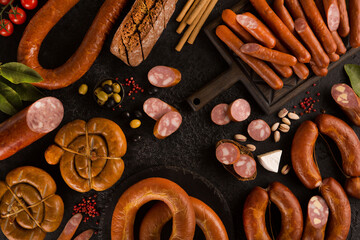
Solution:
<svg viewBox="0 0 360 240">
<path fill-rule="evenodd" d="M 331 96 L 350 120 L 360 126 L 360 98 L 354 90 L 345 83 L 335 84 L 331 88 Z"/>
</svg>

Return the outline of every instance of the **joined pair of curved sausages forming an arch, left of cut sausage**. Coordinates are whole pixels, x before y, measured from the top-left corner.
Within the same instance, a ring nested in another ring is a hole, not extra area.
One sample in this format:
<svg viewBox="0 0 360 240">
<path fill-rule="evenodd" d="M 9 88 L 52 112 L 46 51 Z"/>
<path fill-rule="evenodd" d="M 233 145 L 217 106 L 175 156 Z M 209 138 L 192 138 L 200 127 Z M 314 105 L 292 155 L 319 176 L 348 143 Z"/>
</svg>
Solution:
<svg viewBox="0 0 360 240">
<path fill-rule="evenodd" d="M 285 185 L 273 182 L 265 190 L 255 187 L 247 196 L 244 211 L 243 225 L 248 240 L 271 240 L 267 229 L 265 214 L 273 202 L 281 213 L 281 230 L 277 239 L 301 239 L 303 231 L 303 215 L 300 203 L 296 196 Z"/>
</svg>

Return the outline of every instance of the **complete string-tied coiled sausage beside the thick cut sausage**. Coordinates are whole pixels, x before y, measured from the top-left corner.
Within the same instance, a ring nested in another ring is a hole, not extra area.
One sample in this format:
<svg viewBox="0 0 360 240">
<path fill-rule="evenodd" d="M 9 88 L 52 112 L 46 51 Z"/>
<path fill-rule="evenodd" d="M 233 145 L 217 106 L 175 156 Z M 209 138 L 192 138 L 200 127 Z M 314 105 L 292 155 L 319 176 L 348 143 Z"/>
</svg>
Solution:
<svg viewBox="0 0 360 240">
<path fill-rule="evenodd" d="M 60 162 L 63 179 L 78 192 L 104 191 L 124 171 L 121 157 L 126 153 L 126 138 L 113 121 L 75 120 L 59 130 L 55 143 L 46 150 L 45 159 L 52 165 Z"/>
</svg>

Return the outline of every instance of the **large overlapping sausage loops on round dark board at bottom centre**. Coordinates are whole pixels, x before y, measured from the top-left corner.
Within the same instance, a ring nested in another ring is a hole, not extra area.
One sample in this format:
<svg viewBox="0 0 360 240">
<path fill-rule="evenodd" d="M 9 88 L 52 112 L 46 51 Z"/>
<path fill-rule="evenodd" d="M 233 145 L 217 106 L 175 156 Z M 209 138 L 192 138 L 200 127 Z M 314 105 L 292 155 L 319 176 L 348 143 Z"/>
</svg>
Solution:
<svg viewBox="0 0 360 240">
<path fill-rule="evenodd" d="M 158 239 L 162 226 L 173 218 L 170 239 L 193 239 L 197 223 L 208 239 L 228 239 L 220 218 L 210 207 L 198 199 L 190 198 L 176 183 L 164 178 L 147 178 L 130 188 L 116 204 L 112 222 L 112 239 L 134 239 L 133 225 L 138 209 L 152 200 L 160 200 L 164 206 L 156 205 L 142 223 L 140 239 Z M 157 211 L 161 208 L 160 212 Z"/>
</svg>

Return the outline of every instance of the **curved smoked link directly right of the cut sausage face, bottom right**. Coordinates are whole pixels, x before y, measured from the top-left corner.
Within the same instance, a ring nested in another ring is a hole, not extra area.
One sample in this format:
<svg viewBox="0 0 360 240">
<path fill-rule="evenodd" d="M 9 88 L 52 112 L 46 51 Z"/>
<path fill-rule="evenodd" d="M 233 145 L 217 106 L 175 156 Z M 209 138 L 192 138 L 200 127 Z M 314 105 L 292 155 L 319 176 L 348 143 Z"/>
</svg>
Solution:
<svg viewBox="0 0 360 240">
<path fill-rule="evenodd" d="M 330 209 L 326 239 L 345 240 L 350 230 L 351 208 L 344 189 L 330 177 L 324 179 L 320 186 L 320 193 Z"/>
</svg>

